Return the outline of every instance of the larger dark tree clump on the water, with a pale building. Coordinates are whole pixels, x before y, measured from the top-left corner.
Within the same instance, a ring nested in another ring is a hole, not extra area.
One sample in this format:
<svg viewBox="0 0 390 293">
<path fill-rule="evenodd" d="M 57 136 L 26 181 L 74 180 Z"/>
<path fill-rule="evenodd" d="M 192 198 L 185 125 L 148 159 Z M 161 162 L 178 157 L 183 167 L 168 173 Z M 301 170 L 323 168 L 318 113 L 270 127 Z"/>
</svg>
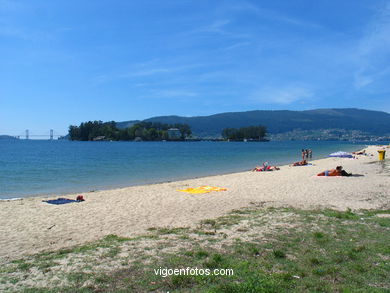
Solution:
<svg viewBox="0 0 390 293">
<path fill-rule="evenodd" d="M 177 128 L 178 131 L 168 129 Z M 119 129 L 115 121 L 88 121 L 80 126 L 69 126 L 70 140 L 184 140 L 191 136 L 191 128 L 187 124 L 164 124 L 159 122 L 140 122 L 125 129 Z"/>
</svg>

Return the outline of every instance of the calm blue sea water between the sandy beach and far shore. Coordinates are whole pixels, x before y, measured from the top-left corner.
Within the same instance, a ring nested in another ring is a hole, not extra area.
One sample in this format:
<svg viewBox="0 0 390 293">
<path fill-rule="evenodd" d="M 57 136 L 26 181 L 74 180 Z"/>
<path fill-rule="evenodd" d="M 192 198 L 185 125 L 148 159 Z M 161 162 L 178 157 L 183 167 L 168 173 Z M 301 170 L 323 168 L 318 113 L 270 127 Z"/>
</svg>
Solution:
<svg viewBox="0 0 390 293">
<path fill-rule="evenodd" d="M 352 151 L 347 142 L 0 141 L 0 199 L 65 194 L 249 170 Z"/>
</svg>

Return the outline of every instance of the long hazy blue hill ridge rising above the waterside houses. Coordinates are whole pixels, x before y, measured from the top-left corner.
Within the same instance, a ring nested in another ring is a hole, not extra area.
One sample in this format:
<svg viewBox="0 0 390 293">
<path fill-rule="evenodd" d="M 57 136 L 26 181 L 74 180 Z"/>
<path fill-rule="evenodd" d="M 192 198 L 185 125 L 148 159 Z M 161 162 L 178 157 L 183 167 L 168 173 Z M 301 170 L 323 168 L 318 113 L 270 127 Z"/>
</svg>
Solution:
<svg viewBox="0 0 390 293">
<path fill-rule="evenodd" d="M 250 125 L 264 125 L 271 134 L 285 133 L 295 129 L 346 129 L 359 130 L 373 135 L 390 134 L 390 114 L 361 109 L 317 109 L 307 111 L 229 112 L 210 116 L 160 116 L 143 121 L 167 124 L 185 123 L 192 133 L 199 137 L 218 137 L 224 128 L 239 128 Z M 139 121 L 117 123 L 119 128 Z"/>
</svg>

